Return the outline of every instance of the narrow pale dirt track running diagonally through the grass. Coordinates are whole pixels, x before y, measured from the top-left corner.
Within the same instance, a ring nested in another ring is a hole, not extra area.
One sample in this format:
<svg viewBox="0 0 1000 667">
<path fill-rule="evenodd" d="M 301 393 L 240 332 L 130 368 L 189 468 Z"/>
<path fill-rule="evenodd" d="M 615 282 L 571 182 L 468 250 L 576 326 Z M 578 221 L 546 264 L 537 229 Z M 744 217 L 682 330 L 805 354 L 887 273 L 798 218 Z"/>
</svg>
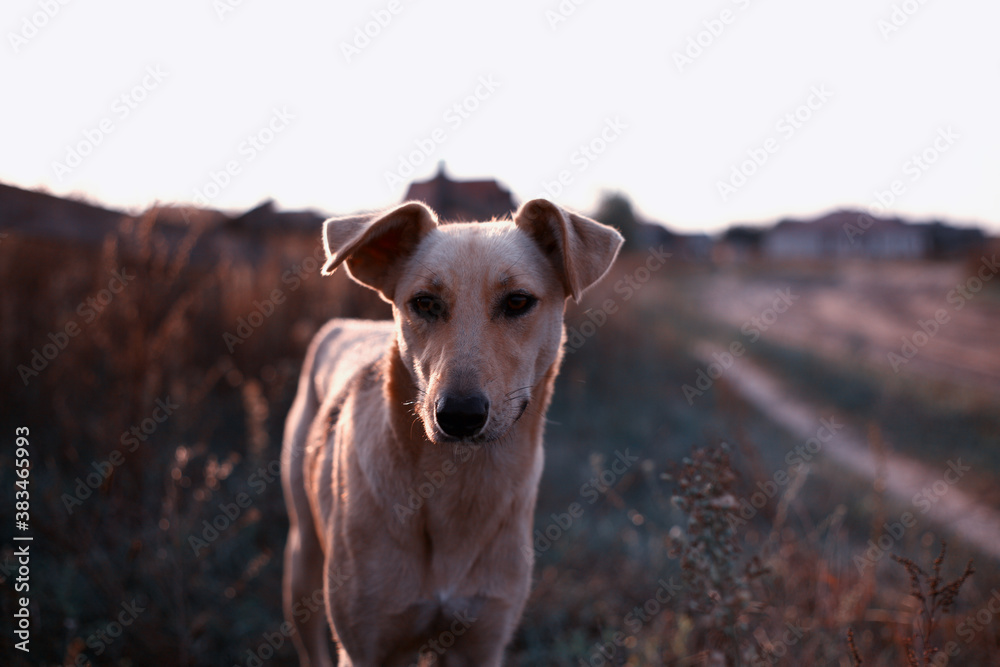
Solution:
<svg viewBox="0 0 1000 667">
<path fill-rule="evenodd" d="M 705 364 L 715 361 L 720 347 L 700 345 L 696 356 Z M 816 436 L 819 414 L 793 396 L 778 379 L 745 357 L 725 370 L 724 378 L 747 401 L 803 442 Z M 822 455 L 856 475 L 875 481 L 879 469 L 867 442 L 845 426 L 823 446 Z M 954 465 L 951 465 L 954 464 Z M 1000 512 L 985 506 L 961 489 L 961 457 L 931 468 L 900 454 L 888 452 L 883 471 L 885 493 L 920 517 L 930 518 L 985 555 L 1000 559 Z M 925 491 L 926 489 L 926 491 Z M 924 495 L 917 498 L 917 494 Z"/>
</svg>

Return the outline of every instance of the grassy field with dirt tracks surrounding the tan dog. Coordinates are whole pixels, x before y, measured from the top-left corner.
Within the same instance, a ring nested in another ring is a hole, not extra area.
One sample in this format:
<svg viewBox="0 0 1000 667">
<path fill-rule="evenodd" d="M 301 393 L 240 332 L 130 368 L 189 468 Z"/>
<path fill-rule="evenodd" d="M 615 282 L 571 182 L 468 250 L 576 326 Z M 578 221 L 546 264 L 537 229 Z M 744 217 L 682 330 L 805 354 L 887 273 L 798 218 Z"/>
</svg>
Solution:
<svg viewBox="0 0 1000 667">
<path fill-rule="evenodd" d="M 318 327 L 388 308 L 321 277 L 318 239 L 251 261 L 162 233 L 0 241 L 3 617 L 28 427 L 39 664 L 297 664 L 284 417 Z M 1000 664 L 1000 537 L 975 532 L 1000 507 L 1000 279 L 950 299 L 979 258 L 646 259 L 568 311 L 508 664 Z"/>
</svg>

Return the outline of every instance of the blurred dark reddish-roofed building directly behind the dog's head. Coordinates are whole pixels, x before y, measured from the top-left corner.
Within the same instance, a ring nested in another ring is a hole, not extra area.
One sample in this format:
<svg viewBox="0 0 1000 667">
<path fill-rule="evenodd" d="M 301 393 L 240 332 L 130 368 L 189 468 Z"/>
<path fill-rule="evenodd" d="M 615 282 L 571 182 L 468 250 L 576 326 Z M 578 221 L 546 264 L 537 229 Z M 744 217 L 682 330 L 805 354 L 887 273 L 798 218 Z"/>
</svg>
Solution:
<svg viewBox="0 0 1000 667">
<path fill-rule="evenodd" d="M 445 173 L 443 162 L 434 178 L 410 184 L 404 201 L 411 200 L 424 202 L 442 220 L 452 221 L 501 218 L 515 208 L 510 191 L 495 180 L 453 181 Z"/>
</svg>

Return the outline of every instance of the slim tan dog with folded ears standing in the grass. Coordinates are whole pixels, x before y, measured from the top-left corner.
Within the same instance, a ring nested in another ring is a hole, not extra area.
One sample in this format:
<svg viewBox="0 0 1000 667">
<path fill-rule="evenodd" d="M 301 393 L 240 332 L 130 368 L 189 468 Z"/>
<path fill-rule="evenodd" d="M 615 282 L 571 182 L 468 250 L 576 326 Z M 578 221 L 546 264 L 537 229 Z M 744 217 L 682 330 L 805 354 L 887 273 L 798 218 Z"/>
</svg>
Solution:
<svg viewBox="0 0 1000 667">
<path fill-rule="evenodd" d="M 423 204 L 324 225 L 324 274 L 392 304 L 309 347 L 285 427 L 285 615 L 302 664 L 499 665 L 531 587 L 545 411 L 566 298 L 610 268 L 612 228 L 543 199 L 513 222 Z M 326 617 L 311 613 L 322 599 Z"/>
</svg>

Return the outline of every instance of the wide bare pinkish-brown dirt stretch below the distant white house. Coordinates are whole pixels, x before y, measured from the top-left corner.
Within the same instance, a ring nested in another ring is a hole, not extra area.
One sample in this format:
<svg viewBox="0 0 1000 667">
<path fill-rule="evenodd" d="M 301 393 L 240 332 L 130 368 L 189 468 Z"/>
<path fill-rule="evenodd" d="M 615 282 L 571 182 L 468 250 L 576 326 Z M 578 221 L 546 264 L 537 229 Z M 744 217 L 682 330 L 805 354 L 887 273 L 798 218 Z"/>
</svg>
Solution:
<svg viewBox="0 0 1000 667">
<path fill-rule="evenodd" d="M 1000 309 L 986 290 L 957 291 L 967 280 L 960 263 L 865 263 L 831 268 L 813 281 L 721 273 L 700 293 L 707 314 L 738 328 L 770 306 L 776 289 L 790 288 L 797 298 L 767 329 L 772 340 L 833 360 L 863 359 L 901 377 L 997 392 Z"/>
</svg>

